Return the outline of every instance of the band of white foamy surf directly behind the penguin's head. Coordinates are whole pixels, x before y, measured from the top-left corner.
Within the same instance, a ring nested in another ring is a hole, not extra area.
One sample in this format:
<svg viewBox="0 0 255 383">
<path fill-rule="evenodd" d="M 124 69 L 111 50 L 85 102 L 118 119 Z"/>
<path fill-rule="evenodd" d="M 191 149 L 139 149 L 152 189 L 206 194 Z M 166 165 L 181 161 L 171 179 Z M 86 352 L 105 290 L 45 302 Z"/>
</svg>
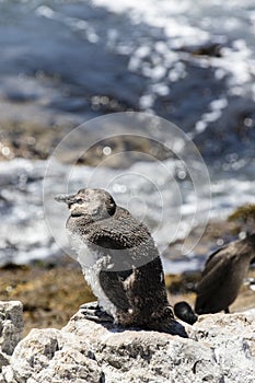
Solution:
<svg viewBox="0 0 255 383">
<path fill-rule="evenodd" d="M 150 166 L 147 162 L 139 162 L 127 170 L 108 170 L 101 167 L 95 171 L 89 166 L 70 166 L 54 163 L 55 174 L 50 174 L 45 185 L 45 161 L 30 161 L 18 159 L 9 163 L 0 163 L 1 179 L 1 232 L 0 232 L 0 259 L 4 263 L 27 263 L 35 259 L 56 257 L 63 254 L 74 255 L 68 247 L 68 237 L 65 232 L 65 222 L 68 218 L 66 206 L 54 200 L 54 196 L 63 192 L 62 181 L 70 174 L 69 192 L 78 190 L 84 186 L 84 178 L 90 179 L 90 186 L 104 187 L 105 179 L 113 179 L 107 189 L 114 195 L 116 201 L 129 209 L 139 220 L 143 221 L 151 230 L 154 240 L 162 252 L 169 243 L 183 240 L 189 231 L 200 228 L 194 242 L 182 254 L 177 248 L 172 248 L 172 257 L 175 262 L 171 265 L 171 271 L 194 269 L 201 267 L 204 257 L 196 258 L 196 243 L 205 229 L 205 221 L 210 219 L 223 220 L 232 212 L 234 207 L 255 202 L 254 182 L 247 179 L 218 178 L 211 183 L 212 198 L 208 199 L 208 190 L 200 189 L 199 214 L 200 221 L 193 223 L 196 202 L 194 192 L 182 183 L 183 196 L 176 197 L 176 188 L 170 189 L 169 174 L 174 177 L 172 160 L 166 160 L 160 165 Z M 161 169 L 165 166 L 165 169 Z M 146 175 L 154 174 L 154 184 L 161 184 L 161 190 L 151 187 Z M 167 174 L 167 176 L 166 176 Z M 119 178 L 120 175 L 120 178 Z M 139 175 L 139 176 L 137 176 Z M 141 176 L 142 175 L 142 176 Z M 71 185 L 71 188 L 70 188 Z M 204 195 L 204 198 L 202 198 Z M 163 196 L 163 201 L 159 200 Z M 44 202 L 43 202 L 44 198 Z M 210 208 L 211 204 L 211 208 Z M 210 209 L 208 209 L 210 208 Z M 209 211 L 209 217 L 208 217 Z M 209 248 L 208 248 L 209 251 Z M 165 252 L 167 254 L 167 252 Z M 183 255 L 186 253 L 186 258 Z M 179 265 L 178 255 L 182 255 Z M 194 259 L 193 259 L 194 256 Z M 73 256 L 74 257 L 74 256 Z M 186 259 L 186 262 L 184 260 Z"/>
</svg>

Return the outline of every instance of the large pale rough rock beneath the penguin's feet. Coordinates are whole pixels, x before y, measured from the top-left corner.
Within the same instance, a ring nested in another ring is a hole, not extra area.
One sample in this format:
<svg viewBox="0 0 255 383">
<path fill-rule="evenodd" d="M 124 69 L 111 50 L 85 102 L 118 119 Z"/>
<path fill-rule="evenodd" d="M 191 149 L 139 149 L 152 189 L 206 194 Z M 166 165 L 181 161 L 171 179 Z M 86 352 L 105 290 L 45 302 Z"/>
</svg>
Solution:
<svg viewBox="0 0 255 383">
<path fill-rule="evenodd" d="M 123 330 L 78 312 L 61 330 L 33 329 L 0 382 L 254 382 L 255 310 L 205 315 L 185 327 L 189 338 Z"/>
</svg>

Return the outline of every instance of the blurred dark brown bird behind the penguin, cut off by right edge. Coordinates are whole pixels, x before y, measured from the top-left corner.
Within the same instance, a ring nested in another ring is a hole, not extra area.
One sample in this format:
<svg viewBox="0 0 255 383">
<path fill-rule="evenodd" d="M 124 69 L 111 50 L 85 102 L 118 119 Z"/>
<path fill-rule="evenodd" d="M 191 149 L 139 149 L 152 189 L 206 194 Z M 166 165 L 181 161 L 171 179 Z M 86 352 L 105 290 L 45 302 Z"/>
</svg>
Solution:
<svg viewBox="0 0 255 383">
<path fill-rule="evenodd" d="M 195 311 L 217 313 L 235 300 L 250 264 L 255 259 L 255 234 L 217 249 L 208 258 L 197 286 Z"/>
</svg>

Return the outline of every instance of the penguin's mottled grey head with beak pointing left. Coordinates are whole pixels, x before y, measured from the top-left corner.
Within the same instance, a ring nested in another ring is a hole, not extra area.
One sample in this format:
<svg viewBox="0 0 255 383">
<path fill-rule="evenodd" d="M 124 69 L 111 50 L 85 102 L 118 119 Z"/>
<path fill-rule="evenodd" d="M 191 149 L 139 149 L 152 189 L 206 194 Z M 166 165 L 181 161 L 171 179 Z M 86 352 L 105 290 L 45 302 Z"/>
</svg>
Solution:
<svg viewBox="0 0 255 383">
<path fill-rule="evenodd" d="M 113 197 L 103 189 L 80 189 L 77 194 L 58 195 L 55 199 L 68 205 L 72 218 L 84 217 L 100 221 L 112 217 L 116 210 Z"/>
</svg>

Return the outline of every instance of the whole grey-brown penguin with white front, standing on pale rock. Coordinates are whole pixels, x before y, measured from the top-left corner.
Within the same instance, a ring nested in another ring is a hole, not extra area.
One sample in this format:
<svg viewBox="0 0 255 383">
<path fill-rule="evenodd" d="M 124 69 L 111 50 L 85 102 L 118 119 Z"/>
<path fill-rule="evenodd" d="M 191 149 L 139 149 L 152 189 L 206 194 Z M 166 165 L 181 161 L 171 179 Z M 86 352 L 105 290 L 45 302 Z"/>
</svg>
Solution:
<svg viewBox="0 0 255 383">
<path fill-rule="evenodd" d="M 176 333 L 161 259 L 148 229 L 102 189 L 56 199 L 68 204 L 67 229 L 101 311 L 123 326 Z"/>
</svg>

